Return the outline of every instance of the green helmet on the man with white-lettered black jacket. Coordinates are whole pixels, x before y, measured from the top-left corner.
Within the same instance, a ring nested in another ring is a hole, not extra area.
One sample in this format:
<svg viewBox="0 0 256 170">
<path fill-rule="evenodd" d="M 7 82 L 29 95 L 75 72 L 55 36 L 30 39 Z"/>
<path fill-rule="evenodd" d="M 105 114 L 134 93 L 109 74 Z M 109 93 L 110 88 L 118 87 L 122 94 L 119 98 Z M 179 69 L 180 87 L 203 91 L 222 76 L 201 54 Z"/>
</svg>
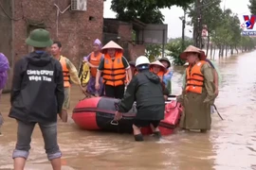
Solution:
<svg viewBox="0 0 256 170">
<path fill-rule="evenodd" d="M 52 45 L 52 40 L 50 39 L 50 34 L 46 29 L 34 29 L 30 32 L 29 37 L 26 40 L 26 43 L 33 47 L 45 48 Z"/>
</svg>

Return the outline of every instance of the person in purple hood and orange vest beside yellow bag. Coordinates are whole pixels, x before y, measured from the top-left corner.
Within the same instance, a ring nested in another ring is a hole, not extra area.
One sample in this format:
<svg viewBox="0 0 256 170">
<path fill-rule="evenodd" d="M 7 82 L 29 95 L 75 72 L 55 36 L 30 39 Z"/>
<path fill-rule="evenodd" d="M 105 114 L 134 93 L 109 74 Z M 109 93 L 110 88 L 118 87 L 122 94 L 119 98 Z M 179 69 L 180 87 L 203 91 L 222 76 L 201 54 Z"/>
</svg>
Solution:
<svg viewBox="0 0 256 170">
<path fill-rule="evenodd" d="M 101 60 L 104 59 L 104 55 L 101 53 L 101 47 L 101 41 L 96 39 L 93 43 L 93 52 L 87 57 L 83 58 L 83 62 L 87 62 L 90 65 L 91 71 L 91 76 L 87 85 L 87 92 L 95 96 L 100 96 L 103 94 L 102 77 L 99 78 L 100 89 L 95 89 L 97 69 L 101 63 Z"/>
</svg>

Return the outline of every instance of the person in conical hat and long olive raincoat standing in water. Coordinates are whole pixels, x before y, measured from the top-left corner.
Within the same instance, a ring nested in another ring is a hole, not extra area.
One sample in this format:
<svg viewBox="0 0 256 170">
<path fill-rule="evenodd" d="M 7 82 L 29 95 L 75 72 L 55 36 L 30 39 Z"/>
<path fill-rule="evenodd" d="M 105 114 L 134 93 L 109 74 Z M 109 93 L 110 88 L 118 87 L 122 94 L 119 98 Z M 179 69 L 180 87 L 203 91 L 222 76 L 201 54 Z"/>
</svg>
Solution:
<svg viewBox="0 0 256 170">
<path fill-rule="evenodd" d="M 181 53 L 180 58 L 189 62 L 186 85 L 177 97 L 184 107 L 180 127 L 206 132 L 211 125 L 210 105 L 216 97 L 212 68 L 205 60 L 205 52 L 192 45 Z"/>
</svg>

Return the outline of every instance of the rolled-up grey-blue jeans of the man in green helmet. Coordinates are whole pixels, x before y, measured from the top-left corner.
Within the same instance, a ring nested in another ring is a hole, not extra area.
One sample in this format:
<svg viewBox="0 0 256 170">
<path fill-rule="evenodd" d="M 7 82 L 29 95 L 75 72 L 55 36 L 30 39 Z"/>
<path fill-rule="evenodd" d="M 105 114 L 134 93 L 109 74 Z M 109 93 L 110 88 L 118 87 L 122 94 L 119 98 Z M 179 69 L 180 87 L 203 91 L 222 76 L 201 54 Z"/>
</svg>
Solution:
<svg viewBox="0 0 256 170">
<path fill-rule="evenodd" d="M 13 151 L 12 158 L 25 158 L 29 155 L 31 135 L 36 123 L 24 123 L 18 121 L 17 144 Z M 57 143 L 57 123 L 39 124 L 45 141 L 47 159 L 49 161 L 62 157 Z"/>
</svg>

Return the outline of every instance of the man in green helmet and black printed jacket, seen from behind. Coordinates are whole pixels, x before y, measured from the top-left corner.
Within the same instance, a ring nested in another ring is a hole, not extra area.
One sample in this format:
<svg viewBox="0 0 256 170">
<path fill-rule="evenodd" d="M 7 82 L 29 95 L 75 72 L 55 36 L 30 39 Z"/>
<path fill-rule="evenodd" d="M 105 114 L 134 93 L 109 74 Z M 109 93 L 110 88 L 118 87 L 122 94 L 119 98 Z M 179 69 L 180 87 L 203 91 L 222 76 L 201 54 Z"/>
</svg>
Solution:
<svg viewBox="0 0 256 170">
<path fill-rule="evenodd" d="M 26 42 L 34 47 L 34 51 L 16 62 L 10 95 L 9 117 L 18 123 L 17 143 L 12 154 L 14 170 L 24 169 L 31 134 L 37 123 L 43 134 L 48 160 L 54 170 L 61 170 L 57 115 L 64 103 L 62 65 L 46 53 L 52 40 L 45 29 L 33 30 Z"/>
</svg>

